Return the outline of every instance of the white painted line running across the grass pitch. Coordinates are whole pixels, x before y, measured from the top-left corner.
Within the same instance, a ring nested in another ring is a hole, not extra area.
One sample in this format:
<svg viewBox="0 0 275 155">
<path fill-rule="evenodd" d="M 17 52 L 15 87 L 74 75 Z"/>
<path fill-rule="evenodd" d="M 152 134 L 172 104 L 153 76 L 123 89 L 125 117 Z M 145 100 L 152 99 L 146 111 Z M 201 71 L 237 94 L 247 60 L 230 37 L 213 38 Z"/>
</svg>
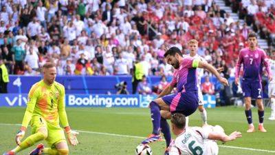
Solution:
<svg viewBox="0 0 275 155">
<path fill-rule="evenodd" d="M 8 124 L 8 123 L 0 123 L 0 125 L 17 125 L 17 126 L 21 126 L 21 124 Z M 76 131 L 87 133 L 87 134 L 101 134 L 101 135 L 107 135 L 107 136 L 120 136 L 120 137 L 140 138 L 140 139 L 146 138 L 146 137 L 142 137 L 142 136 L 129 136 L 129 135 L 124 135 L 124 134 L 109 134 L 109 133 L 106 133 L 106 132 L 89 132 L 89 131 L 83 131 L 83 130 L 76 130 Z M 249 148 L 249 147 L 235 147 L 235 146 L 228 146 L 228 145 L 219 145 L 219 147 L 225 147 L 225 148 L 231 148 L 231 149 L 244 149 L 244 150 L 249 150 L 249 151 L 257 151 L 257 152 L 275 153 L 275 151 L 272 151 L 272 150 L 253 149 L 253 148 Z"/>
</svg>

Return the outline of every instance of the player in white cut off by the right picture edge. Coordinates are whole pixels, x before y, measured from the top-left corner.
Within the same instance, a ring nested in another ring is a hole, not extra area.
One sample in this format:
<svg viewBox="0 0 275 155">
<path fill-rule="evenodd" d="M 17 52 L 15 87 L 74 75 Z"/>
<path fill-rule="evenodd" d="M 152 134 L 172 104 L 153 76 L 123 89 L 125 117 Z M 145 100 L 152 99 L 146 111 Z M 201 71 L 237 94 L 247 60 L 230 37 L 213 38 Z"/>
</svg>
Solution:
<svg viewBox="0 0 275 155">
<path fill-rule="evenodd" d="M 272 77 L 275 77 L 275 50 L 272 51 L 272 56 L 270 59 L 270 68 L 272 72 Z M 275 78 L 273 78 L 268 85 L 268 96 L 270 96 L 271 102 L 271 115 L 268 119 L 275 120 Z"/>
</svg>

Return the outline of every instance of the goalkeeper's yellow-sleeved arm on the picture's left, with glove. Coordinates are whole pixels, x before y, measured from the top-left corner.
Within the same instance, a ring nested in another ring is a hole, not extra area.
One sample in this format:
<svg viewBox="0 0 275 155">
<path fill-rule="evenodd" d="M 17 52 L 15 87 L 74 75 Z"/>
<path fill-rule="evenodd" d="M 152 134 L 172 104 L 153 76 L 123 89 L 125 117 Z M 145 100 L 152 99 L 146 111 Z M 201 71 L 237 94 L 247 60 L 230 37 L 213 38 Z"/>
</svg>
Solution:
<svg viewBox="0 0 275 155">
<path fill-rule="evenodd" d="M 21 139 L 25 136 L 25 131 L 27 130 L 30 120 L 32 119 L 32 113 L 34 112 L 37 98 L 38 91 L 36 90 L 36 87 L 33 86 L 28 95 L 27 108 L 25 110 L 21 128 L 17 133 L 17 137 L 15 138 L 17 145 L 20 145 Z"/>
</svg>

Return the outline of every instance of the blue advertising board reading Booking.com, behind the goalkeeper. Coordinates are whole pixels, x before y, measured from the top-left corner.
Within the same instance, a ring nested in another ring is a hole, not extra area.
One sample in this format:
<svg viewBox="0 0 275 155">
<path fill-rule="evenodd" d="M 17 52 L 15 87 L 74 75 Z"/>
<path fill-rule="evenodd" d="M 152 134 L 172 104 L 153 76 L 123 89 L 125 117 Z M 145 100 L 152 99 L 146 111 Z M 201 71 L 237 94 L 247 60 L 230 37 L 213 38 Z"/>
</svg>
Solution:
<svg viewBox="0 0 275 155">
<path fill-rule="evenodd" d="M 66 94 L 67 107 L 148 107 L 154 95 Z M 216 107 L 214 95 L 203 95 L 205 107 Z M 0 107 L 25 107 L 28 94 L 0 94 Z"/>
</svg>

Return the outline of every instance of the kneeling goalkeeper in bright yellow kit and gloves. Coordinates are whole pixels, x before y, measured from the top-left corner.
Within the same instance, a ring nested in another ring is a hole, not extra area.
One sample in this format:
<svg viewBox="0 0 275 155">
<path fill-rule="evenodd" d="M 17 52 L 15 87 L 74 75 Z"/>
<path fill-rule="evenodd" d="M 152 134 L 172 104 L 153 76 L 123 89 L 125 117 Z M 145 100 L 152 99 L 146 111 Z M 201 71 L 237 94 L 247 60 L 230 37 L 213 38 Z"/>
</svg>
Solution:
<svg viewBox="0 0 275 155">
<path fill-rule="evenodd" d="M 65 88 L 55 79 L 56 67 L 54 63 L 45 63 L 43 65 L 43 80 L 32 85 L 29 92 L 27 109 L 16 137 L 17 147 L 4 155 L 17 154 L 17 152 L 43 140 L 47 141 L 49 147 L 44 148 L 43 144 L 40 144 L 30 155 L 69 154 L 65 134 L 59 126 L 59 120 L 67 133 L 69 143 L 74 146 L 78 144 L 76 138 L 78 132 L 71 130 L 67 120 L 64 103 Z M 29 123 L 32 127 L 32 135 L 21 142 Z"/>
</svg>

